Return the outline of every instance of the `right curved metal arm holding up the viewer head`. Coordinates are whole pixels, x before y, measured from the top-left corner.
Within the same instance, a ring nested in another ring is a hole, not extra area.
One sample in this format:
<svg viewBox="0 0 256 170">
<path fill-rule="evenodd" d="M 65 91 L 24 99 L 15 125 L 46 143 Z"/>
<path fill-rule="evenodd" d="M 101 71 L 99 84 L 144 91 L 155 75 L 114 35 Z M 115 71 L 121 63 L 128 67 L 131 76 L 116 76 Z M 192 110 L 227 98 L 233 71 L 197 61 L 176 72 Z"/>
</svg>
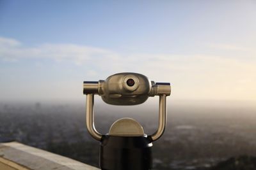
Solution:
<svg viewBox="0 0 256 170">
<path fill-rule="evenodd" d="M 166 94 L 159 95 L 159 124 L 157 131 L 151 135 L 152 141 L 159 139 L 166 126 Z"/>
</svg>

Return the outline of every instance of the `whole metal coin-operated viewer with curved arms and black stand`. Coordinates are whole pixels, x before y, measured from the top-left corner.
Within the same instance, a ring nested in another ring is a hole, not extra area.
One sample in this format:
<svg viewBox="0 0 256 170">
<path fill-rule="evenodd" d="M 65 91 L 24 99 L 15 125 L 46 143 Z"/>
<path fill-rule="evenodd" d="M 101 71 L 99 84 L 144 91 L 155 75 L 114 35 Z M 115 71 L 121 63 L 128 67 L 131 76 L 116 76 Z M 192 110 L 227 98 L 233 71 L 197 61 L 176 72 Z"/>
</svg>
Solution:
<svg viewBox="0 0 256 170">
<path fill-rule="evenodd" d="M 166 125 L 166 96 L 170 83 L 155 83 L 138 73 L 118 73 L 106 80 L 84 81 L 86 94 L 86 127 L 91 136 L 100 141 L 100 168 L 104 170 L 152 169 L 152 142 L 161 137 Z M 100 134 L 94 127 L 94 95 L 113 105 L 135 105 L 159 96 L 159 125 L 147 136 L 141 125 L 132 118 L 121 118 L 111 125 L 108 134 Z"/>
</svg>

